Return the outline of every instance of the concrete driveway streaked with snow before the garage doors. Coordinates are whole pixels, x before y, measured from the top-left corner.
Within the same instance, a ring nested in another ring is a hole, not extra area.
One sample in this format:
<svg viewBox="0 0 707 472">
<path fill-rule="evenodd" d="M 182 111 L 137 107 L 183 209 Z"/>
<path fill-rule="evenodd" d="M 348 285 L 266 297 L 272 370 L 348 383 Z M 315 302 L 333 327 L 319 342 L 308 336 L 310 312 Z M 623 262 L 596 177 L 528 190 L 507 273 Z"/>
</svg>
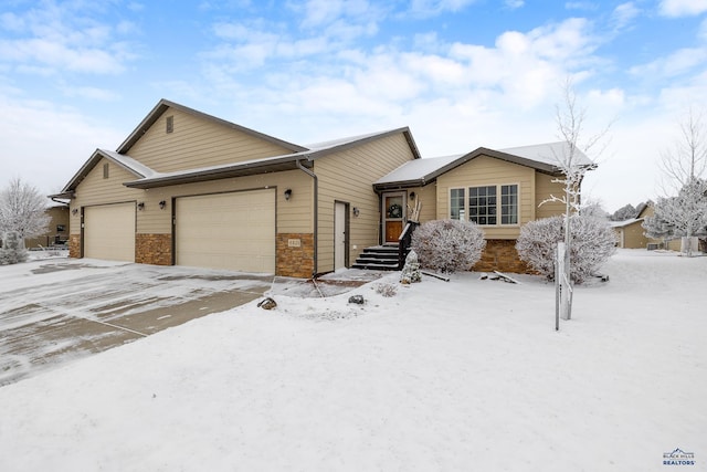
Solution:
<svg viewBox="0 0 707 472">
<path fill-rule="evenodd" d="M 0 268 L 0 386 L 253 301 L 272 276 L 97 260 Z"/>
</svg>

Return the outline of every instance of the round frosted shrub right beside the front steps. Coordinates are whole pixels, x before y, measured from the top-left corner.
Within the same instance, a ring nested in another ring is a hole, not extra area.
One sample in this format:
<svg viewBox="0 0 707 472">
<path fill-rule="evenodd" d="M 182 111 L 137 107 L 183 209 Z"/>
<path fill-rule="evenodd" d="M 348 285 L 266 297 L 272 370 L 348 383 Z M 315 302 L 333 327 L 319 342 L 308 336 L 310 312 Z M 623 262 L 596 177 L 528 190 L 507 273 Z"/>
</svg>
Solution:
<svg viewBox="0 0 707 472">
<path fill-rule="evenodd" d="M 412 233 L 412 249 L 420 264 L 439 272 L 471 270 L 485 247 L 484 232 L 472 222 L 428 221 Z"/>
</svg>

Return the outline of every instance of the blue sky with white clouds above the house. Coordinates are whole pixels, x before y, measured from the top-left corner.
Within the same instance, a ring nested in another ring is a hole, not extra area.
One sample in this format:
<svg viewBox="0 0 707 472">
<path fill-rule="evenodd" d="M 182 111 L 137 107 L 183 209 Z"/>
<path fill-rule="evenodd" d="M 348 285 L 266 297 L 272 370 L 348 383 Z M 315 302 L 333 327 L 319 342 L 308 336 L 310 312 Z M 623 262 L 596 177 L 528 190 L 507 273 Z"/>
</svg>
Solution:
<svg viewBox="0 0 707 472">
<path fill-rule="evenodd" d="M 2 175 L 56 192 L 160 98 L 302 145 L 400 126 L 424 157 L 553 141 L 568 77 L 585 138 L 612 123 L 589 197 L 655 198 L 661 153 L 707 108 L 707 0 L 6 0 Z"/>
</svg>

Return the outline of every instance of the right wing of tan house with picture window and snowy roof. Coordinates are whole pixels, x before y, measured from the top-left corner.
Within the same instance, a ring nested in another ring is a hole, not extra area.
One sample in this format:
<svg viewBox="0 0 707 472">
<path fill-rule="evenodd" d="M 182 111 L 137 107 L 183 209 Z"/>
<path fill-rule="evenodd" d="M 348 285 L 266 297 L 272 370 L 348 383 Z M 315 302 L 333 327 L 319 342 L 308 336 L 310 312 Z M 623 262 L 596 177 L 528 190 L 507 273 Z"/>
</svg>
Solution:
<svg viewBox="0 0 707 472">
<path fill-rule="evenodd" d="M 563 186 L 553 180 L 561 178 L 556 162 L 567 147 L 566 143 L 502 150 L 481 147 L 464 155 L 410 161 L 378 179 L 373 188 L 383 196 L 383 208 L 390 203 L 405 208 L 408 201 L 420 199 L 421 222 L 450 218 L 479 224 L 486 250 L 475 270 L 527 272 L 516 240 L 523 224 L 564 213 L 564 204 L 546 200 L 563 195 Z M 577 162 L 594 166 L 581 153 Z M 383 221 L 389 213 L 383 212 Z M 397 230 L 386 231 L 386 240 L 394 240 Z"/>
</svg>

